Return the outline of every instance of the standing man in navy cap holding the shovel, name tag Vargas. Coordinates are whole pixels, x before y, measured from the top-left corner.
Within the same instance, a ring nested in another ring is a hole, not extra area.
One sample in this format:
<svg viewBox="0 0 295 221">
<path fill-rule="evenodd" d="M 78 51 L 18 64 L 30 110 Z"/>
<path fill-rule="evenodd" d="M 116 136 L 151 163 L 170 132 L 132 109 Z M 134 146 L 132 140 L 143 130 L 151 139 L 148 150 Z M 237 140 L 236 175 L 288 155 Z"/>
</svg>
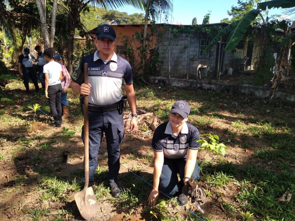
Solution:
<svg viewBox="0 0 295 221">
<path fill-rule="evenodd" d="M 119 197 L 121 190 L 117 185 L 117 176 L 120 169 L 120 144 L 124 136 L 122 84 L 132 113 L 130 132 L 137 128 L 132 69 L 129 62 L 115 54 L 116 32 L 110 25 L 99 26 L 96 37 L 99 50 L 81 58 L 72 75 L 71 88 L 73 92 L 89 97 L 89 187 L 94 183 L 97 154 L 105 133 L 109 167 L 107 179 L 112 196 Z M 89 64 L 88 84 L 84 84 L 84 63 Z"/>
</svg>

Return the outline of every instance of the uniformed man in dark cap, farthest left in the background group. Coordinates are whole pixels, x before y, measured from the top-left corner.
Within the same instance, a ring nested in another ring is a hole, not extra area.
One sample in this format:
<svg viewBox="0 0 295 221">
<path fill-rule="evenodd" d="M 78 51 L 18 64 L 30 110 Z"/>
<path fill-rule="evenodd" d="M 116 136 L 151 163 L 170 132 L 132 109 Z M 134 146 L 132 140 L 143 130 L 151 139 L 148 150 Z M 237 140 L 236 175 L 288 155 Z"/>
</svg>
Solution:
<svg viewBox="0 0 295 221">
<path fill-rule="evenodd" d="M 22 74 L 23 76 L 24 86 L 28 94 L 31 93 L 29 88 L 29 78 L 34 83 L 36 91 L 39 91 L 38 79 L 33 68 L 33 61 L 36 62 L 37 60 L 35 59 L 34 55 L 30 54 L 30 48 L 25 47 L 24 53 L 19 55 L 18 69 L 19 74 Z"/>
</svg>

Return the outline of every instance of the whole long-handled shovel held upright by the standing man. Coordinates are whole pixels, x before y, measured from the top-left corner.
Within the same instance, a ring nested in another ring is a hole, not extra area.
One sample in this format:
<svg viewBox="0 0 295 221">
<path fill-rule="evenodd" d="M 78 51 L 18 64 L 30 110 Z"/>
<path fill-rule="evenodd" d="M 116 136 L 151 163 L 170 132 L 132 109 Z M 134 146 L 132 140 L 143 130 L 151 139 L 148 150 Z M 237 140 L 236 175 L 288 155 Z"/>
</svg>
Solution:
<svg viewBox="0 0 295 221">
<path fill-rule="evenodd" d="M 88 84 L 88 63 L 84 64 L 84 83 Z M 75 194 L 75 201 L 81 216 L 90 220 L 97 211 L 97 201 L 92 187 L 89 183 L 89 126 L 88 126 L 88 96 L 84 96 L 84 188 Z"/>
</svg>

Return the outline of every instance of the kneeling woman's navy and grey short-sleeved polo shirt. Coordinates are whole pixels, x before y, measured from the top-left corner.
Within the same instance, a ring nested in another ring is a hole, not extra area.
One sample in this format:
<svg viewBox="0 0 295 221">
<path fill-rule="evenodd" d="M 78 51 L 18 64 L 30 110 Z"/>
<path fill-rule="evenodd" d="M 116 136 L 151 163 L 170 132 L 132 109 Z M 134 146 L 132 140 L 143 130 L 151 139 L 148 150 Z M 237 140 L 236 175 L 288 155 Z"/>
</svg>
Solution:
<svg viewBox="0 0 295 221">
<path fill-rule="evenodd" d="M 198 150 L 201 144 L 199 130 L 190 123 L 183 123 L 180 133 L 175 136 L 172 133 L 170 121 L 162 123 L 155 130 L 152 148 L 157 152 L 164 152 L 164 157 L 176 159 L 186 158 L 188 149 Z"/>
</svg>

